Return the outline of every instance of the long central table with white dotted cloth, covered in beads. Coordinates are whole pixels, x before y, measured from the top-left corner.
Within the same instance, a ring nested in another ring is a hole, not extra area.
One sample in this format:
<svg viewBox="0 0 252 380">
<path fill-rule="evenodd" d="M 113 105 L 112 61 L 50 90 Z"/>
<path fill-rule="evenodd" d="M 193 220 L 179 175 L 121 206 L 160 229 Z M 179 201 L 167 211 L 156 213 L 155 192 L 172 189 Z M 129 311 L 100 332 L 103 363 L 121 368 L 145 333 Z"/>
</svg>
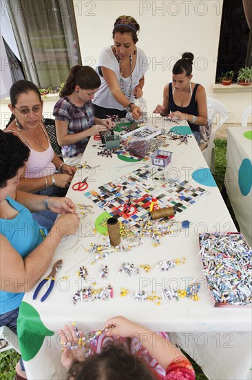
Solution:
<svg viewBox="0 0 252 380">
<path fill-rule="evenodd" d="M 171 127 L 158 120 L 154 120 L 153 124 L 165 126 L 166 129 Z M 76 171 L 72 180 L 73 184 L 89 175 L 88 191 L 145 164 L 151 164 L 150 159 L 147 162 L 125 162 L 116 155 L 106 158 L 97 154 L 97 144 L 99 142 L 91 137 L 81 162 L 87 162 L 92 167 L 99 166 L 92 171 Z M 231 310 L 213 307 L 211 294 L 202 274 L 201 258 L 198 256 L 198 234 L 207 231 L 236 231 L 235 225 L 196 140 L 191 137 L 188 144 L 179 144 L 178 140 L 172 140 L 165 149 L 173 152 L 165 171 L 167 178 L 189 180 L 195 187 L 207 189 L 208 195 L 182 213 L 177 213 L 178 222 L 189 220 L 189 229 L 162 237 L 158 247 L 151 245 L 151 239 L 143 238 L 144 244 L 132 251 L 110 254 L 103 261 L 92 265 L 94 256 L 88 251 L 91 243 L 107 244 L 105 236 L 94 232 L 94 221 L 103 210 L 85 197 L 83 192 L 74 191 L 70 186 L 67 196 L 76 204 L 92 205 L 94 213 L 81 220 L 77 236 L 64 238 L 56 250 L 52 265 L 61 258 L 63 267 L 56 275 L 56 287 L 47 300 L 41 303 L 37 297 L 33 301 L 33 289 L 25 294 L 21 303 L 19 338 L 28 379 L 65 379 L 65 370 L 60 364 L 61 348 L 57 334 L 59 328 L 75 321 L 80 330 L 99 330 L 108 318 L 116 315 L 123 315 L 152 330 L 178 333 L 171 334 L 171 339 L 179 339 L 182 348 L 202 365 L 209 379 L 248 378 L 251 358 L 251 309 L 238 307 Z M 160 260 L 181 259 L 182 256 L 187 258 L 186 263 L 169 272 L 151 270 L 145 273 L 141 269 L 139 278 L 127 278 L 118 274 L 118 269 L 124 261 L 134 263 L 138 267 L 145 264 L 153 267 Z M 109 267 L 107 281 L 98 278 L 101 263 Z M 79 284 L 76 272 L 82 265 L 87 268 L 89 278 L 96 281 L 97 287 L 105 287 L 108 283 L 112 285 L 114 298 L 76 305 L 72 303 L 72 297 Z M 46 274 L 49 272 L 50 268 Z M 161 304 L 157 305 L 154 301 L 139 303 L 131 296 L 120 296 L 121 287 L 132 291 L 141 288 L 149 293 L 155 291 L 159 294 L 161 287 L 185 289 L 194 281 L 200 281 L 202 285 L 199 301 L 180 298 L 179 301 L 160 301 Z M 239 359 L 240 351 L 242 359 Z"/>
</svg>

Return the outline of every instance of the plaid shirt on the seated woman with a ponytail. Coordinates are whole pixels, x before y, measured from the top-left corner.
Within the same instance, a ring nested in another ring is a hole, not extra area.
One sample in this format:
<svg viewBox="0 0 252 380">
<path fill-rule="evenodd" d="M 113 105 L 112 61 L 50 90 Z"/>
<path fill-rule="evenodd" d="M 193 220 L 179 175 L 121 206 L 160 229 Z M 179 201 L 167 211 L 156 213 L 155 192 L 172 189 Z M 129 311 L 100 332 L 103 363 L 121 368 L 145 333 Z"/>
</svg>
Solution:
<svg viewBox="0 0 252 380">
<path fill-rule="evenodd" d="M 85 131 L 94 125 L 94 112 L 91 101 L 77 107 L 70 102 L 68 97 L 61 97 L 54 106 L 53 115 L 55 120 L 68 122 L 68 135 Z M 85 137 L 85 139 L 75 144 L 63 146 L 63 157 L 74 157 L 79 153 L 83 153 L 89 140 L 90 137 Z"/>
</svg>

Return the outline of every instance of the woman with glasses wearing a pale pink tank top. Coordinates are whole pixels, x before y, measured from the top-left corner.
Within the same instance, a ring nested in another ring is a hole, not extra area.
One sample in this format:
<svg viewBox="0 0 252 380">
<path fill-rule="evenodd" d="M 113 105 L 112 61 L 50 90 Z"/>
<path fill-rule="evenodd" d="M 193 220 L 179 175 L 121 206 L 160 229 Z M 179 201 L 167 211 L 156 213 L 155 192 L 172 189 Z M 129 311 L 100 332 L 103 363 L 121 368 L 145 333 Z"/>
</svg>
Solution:
<svg viewBox="0 0 252 380">
<path fill-rule="evenodd" d="M 15 82 L 10 88 L 8 106 L 12 117 L 5 131 L 17 135 L 30 148 L 24 178 L 18 189 L 43 196 L 65 196 L 76 169 L 65 164 L 52 149 L 43 124 L 43 100 L 39 88 L 27 80 Z M 44 217 L 48 222 L 36 220 L 44 227 L 52 227 L 56 214 L 48 211 Z"/>
</svg>

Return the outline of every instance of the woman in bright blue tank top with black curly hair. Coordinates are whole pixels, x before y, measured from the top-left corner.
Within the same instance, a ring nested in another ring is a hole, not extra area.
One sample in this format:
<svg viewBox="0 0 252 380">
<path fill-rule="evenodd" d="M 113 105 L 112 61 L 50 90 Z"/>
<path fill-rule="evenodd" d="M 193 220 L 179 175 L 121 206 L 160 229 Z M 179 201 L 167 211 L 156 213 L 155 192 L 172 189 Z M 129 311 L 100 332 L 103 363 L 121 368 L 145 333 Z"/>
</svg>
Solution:
<svg viewBox="0 0 252 380">
<path fill-rule="evenodd" d="M 76 234 L 79 222 L 69 198 L 17 191 L 29 154 L 17 136 L 0 131 L 0 326 L 16 334 L 24 292 L 48 269 L 61 238 Z M 46 237 L 30 213 L 45 209 L 62 214 Z"/>
</svg>

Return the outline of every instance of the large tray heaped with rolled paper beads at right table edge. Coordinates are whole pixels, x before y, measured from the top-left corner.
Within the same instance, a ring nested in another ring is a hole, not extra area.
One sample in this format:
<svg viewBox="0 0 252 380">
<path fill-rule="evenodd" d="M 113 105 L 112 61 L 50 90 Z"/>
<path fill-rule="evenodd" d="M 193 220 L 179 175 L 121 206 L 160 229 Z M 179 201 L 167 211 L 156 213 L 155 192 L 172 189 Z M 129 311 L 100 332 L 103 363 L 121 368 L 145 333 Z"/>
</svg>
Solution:
<svg viewBox="0 0 252 380">
<path fill-rule="evenodd" d="M 199 238 L 214 307 L 251 307 L 252 250 L 242 234 L 205 233 Z"/>
</svg>

